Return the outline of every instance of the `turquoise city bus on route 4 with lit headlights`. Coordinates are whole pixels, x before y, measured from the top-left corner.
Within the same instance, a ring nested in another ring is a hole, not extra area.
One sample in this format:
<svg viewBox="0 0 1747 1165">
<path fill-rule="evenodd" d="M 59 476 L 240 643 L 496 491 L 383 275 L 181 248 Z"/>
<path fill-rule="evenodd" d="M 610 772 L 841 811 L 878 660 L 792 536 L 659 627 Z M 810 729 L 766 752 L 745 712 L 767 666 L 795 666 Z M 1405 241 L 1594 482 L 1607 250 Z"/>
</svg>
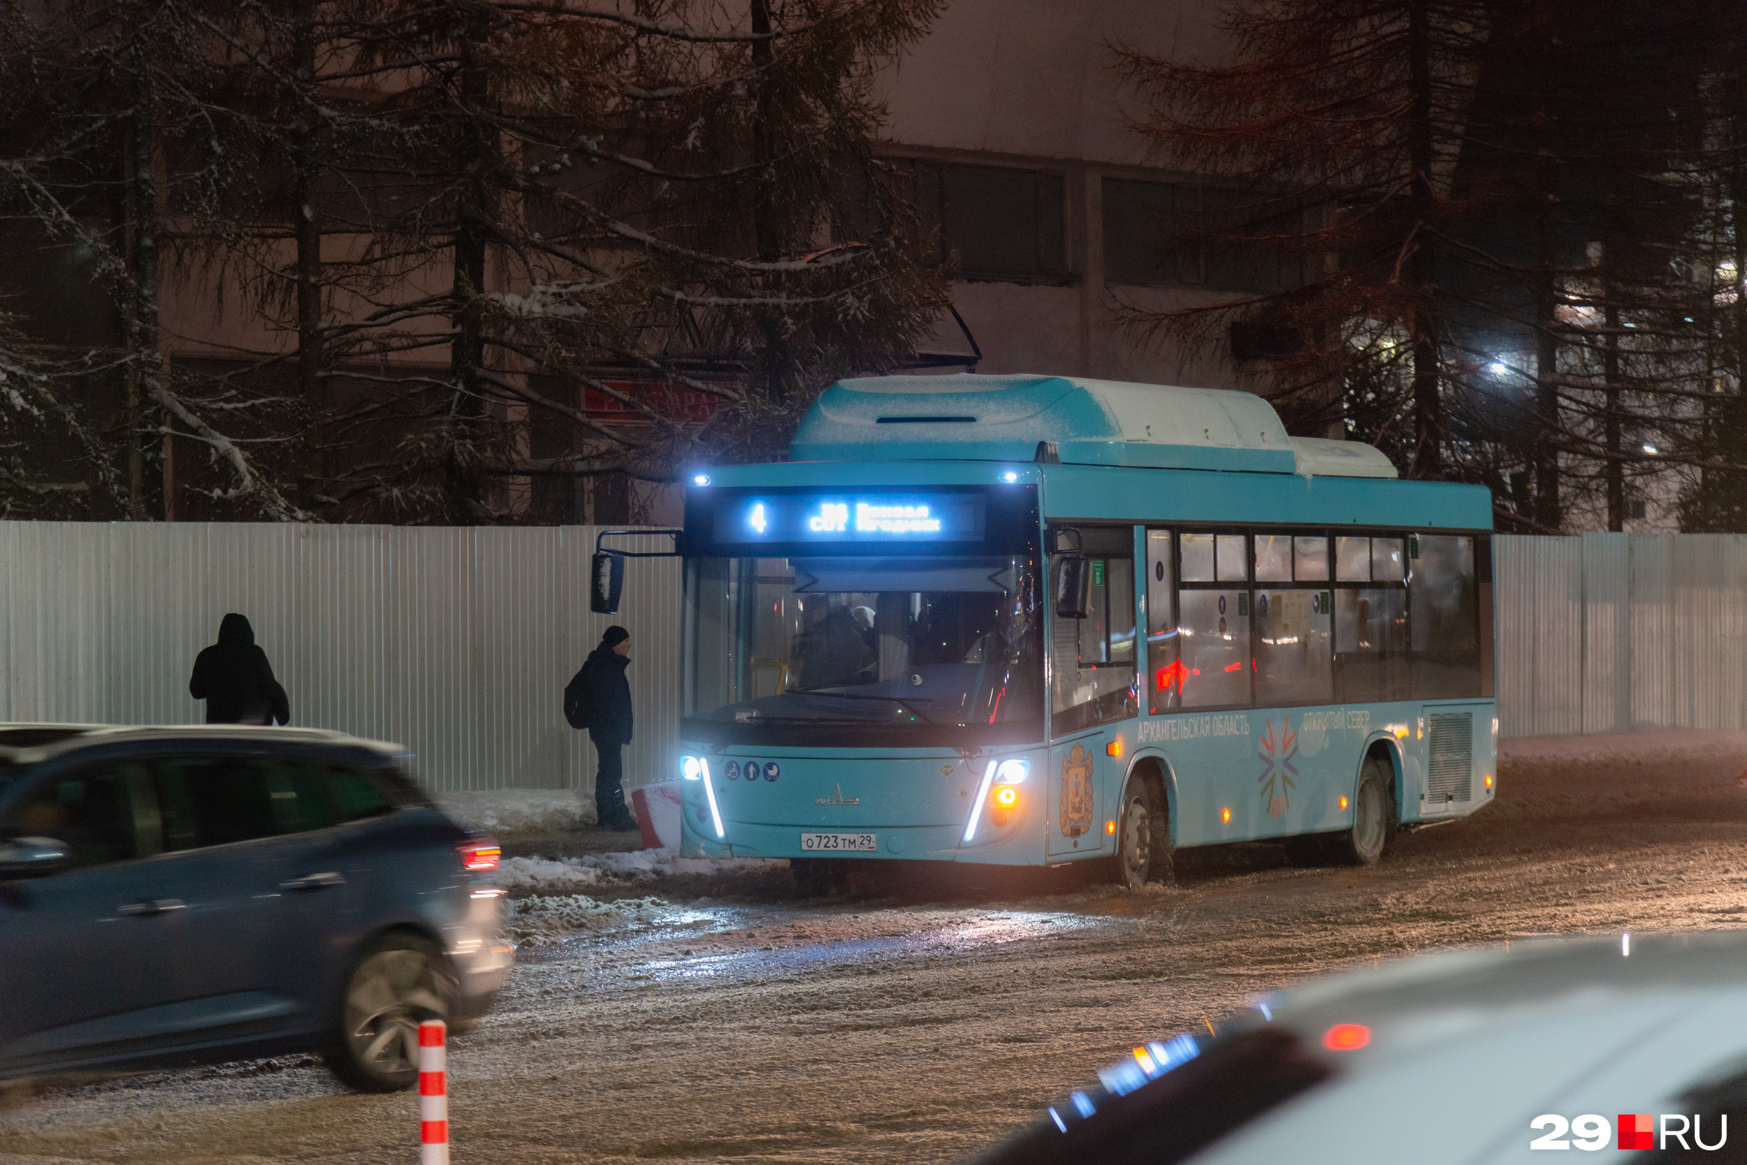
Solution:
<svg viewBox="0 0 1747 1165">
<path fill-rule="evenodd" d="M 687 856 L 1373 863 L 1495 793 L 1492 498 L 1249 393 L 849 379 L 685 494 Z"/>
</svg>

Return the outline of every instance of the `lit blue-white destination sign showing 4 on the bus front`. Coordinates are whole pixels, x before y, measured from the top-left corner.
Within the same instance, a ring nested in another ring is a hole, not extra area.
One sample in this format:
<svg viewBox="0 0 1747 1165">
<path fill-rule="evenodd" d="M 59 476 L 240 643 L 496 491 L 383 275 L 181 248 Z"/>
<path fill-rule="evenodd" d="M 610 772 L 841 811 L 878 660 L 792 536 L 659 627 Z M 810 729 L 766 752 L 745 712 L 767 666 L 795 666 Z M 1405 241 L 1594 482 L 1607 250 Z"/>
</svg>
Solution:
<svg viewBox="0 0 1747 1165">
<path fill-rule="evenodd" d="M 716 541 L 982 541 L 982 494 L 779 494 L 716 510 Z"/>
</svg>

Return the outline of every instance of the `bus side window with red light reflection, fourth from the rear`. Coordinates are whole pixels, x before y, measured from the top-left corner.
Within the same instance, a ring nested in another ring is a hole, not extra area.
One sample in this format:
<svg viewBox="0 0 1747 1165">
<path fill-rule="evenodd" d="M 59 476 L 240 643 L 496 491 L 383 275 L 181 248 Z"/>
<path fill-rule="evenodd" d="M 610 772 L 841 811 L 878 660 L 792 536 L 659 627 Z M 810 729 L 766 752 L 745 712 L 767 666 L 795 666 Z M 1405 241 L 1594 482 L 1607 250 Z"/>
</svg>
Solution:
<svg viewBox="0 0 1747 1165">
<path fill-rule="evenodd" d="M 1183 534 L 1181 538 L 1177 692 L 1183 707 L 1244 707 L 1249 704 L 1249 587 L 1197 587 L 1191 582 L 1218 578 L 1219 582 L 1247 583 L 1246 541 L 1244 534 Z M 1214 548 L 1216 552 L 1212 552 Z"/>
</svg>

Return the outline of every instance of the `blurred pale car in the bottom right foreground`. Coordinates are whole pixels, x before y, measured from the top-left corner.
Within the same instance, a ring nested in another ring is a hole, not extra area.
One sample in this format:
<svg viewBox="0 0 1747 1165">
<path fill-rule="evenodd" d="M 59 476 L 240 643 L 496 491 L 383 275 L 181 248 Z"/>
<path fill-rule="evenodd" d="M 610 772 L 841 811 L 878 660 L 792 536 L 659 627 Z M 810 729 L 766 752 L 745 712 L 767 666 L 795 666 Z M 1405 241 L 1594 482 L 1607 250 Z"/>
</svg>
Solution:
<svg viewBox="0 0 1747 1165">
<path fill-rule="evenodd" d="M 977 1165 L 1747 1162 L 1742 931 L 1403 959 L 1216 1027 L 1137 1044 Z"/>
</svg>

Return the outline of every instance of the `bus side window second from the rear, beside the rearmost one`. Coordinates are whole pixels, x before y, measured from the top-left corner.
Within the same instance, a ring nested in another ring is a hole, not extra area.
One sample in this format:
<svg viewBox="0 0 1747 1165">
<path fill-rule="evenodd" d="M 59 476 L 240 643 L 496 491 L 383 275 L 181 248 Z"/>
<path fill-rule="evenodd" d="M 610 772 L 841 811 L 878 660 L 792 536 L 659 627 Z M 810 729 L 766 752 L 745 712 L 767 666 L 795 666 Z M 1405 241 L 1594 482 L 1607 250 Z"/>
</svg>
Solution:
<svg viewBox="0 0 1747 1165">
<path fill-rule="evenodd" d="M 1401 540 L 1335 540 L 1335 699 L 1408 699 L 1408 594 L 1401 587 Z"/>
</svg>

